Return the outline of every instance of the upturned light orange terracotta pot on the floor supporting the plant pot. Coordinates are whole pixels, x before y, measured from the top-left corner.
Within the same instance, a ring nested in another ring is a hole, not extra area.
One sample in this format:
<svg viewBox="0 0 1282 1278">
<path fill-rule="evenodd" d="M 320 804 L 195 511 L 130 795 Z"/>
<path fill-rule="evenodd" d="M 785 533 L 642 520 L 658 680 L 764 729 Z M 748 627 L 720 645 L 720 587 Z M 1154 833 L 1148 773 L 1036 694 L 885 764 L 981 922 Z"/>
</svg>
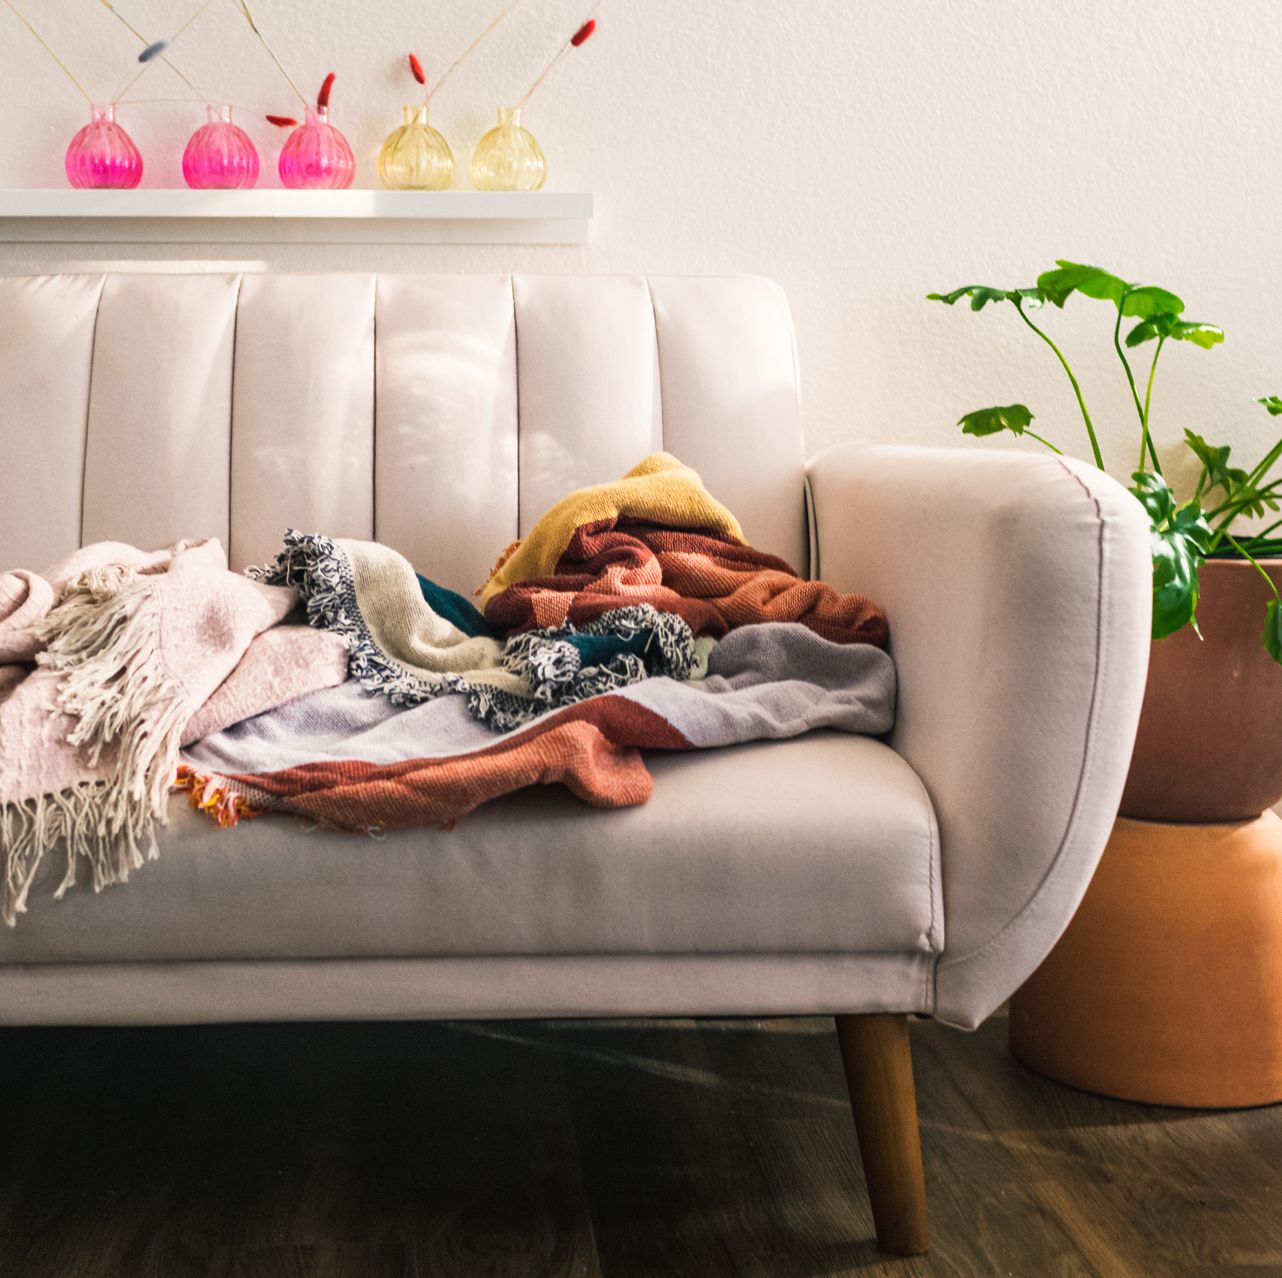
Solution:
<svg viewBox="0 0 1282 1278">
<path fill-rule="evenodd" d="M 1282 1100 L 1282 820 L 1119 819 L 1068 931 L 1010 1000 L 1010 1050 L 1123 1100 Z"/>
</svg>

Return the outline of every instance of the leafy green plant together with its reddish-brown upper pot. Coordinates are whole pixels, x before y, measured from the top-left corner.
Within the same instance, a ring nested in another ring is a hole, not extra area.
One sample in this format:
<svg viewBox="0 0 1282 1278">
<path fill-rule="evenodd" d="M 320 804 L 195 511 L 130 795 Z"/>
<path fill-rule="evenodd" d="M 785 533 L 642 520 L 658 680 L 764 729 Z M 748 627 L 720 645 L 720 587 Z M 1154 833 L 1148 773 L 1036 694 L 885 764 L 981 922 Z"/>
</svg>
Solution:
<svg viewBox="0 0 1282 1278">
<path fill-rule="evenodd" d="M 967 285 L 929 300 L 973 311 L 1009 306 L 1063 368 L 1092 460 L 1103 449 L 1081 383 L 1038 311 L 1078 294 L 1109 308 L 1111 344 L 1137 418 L 1131 491 L 1153 529 L 1153 637 L 1149 685 L 1122 814 L 1146 820 L 1227 822 L 1258 817 L 1282 799 L 1282 438 L 1250 468 L 1231 464 L 1228 445 L 1192 429 L 1183 444 L 1197 460 L 1181 499 L 1163 474 L 1150 411 L 1159 360 L 1170 342 L 1210 350 L 1224 340 L 1215 324 L 1183 318 L 1185 304 L 1154 285 L 1129 283 L 1099 267 L 1056 261 L 1028 288 Z M 1147 370 L 1137 381 L 1132 358 Z M 1258 401 L 1282 415 L 1282 397 Z M 964 435 L 1009 432 L 1053 452 L 1032 429 L 1024 404 L 967 413 Z M 1250 524 L 1249 524 L 1250 522 Z M 1197 742 L 1217 742 L 1214 749 Z M 1196 767 L 1190 767 L 1190 751 Z"/>
</svg>

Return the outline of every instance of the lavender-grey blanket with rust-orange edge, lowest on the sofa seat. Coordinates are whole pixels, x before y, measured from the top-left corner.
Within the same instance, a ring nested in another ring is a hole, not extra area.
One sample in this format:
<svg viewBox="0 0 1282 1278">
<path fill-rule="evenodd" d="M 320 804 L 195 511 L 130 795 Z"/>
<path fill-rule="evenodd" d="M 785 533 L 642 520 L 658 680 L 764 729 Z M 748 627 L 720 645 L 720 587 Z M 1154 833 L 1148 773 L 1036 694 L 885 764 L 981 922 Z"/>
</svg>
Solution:
<svg viewBox="0 0 1282 1278">
<path fill-rule="evenodd" d="M 263 811 L 349 829 L 449 823 L 497 795 L 556 782 L 596 806 L 627 806 L 650 795 L 645 749 L 815 728 L 877 734 L 894 708 L 886 652 L 764 623 L 727 635 L 703 679 L 644 679 L 501 736 L 465 697 L 396 706 L 349 681 L 197 742 L 183 752 L 183 777 L 192 801 L 224 824 Z"/>
</svg>

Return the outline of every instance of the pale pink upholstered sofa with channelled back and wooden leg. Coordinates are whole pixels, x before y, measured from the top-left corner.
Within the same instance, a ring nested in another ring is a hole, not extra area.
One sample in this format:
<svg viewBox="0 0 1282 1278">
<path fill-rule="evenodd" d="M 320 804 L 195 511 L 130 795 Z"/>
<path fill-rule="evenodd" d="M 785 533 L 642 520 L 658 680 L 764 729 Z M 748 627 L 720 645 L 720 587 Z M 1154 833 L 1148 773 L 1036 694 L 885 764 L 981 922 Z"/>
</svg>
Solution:
<svg viewBox="0 0 1282 1278">
<path fill-rule="evenodd" d="M 37 883 L 0 929 L 0 1022 L 835 1014 L 878 1237 L 924 1247 L 906 1014 L 997 1008 L 1117 809 L 1149 629 L 1117 483 L 983 449 L 808 463 L 787 304 L 746 277 L 5 278 L 0 445 L 4 568 L 185 536 L 238 568 L 295 526 L 470 591 L 663 447 L 754 545 L 881 602 L 886 740 L 656 758 L 641 808 L 545 788 L 377 841 L 176 800 L 127 886 Z"/>
</svg>

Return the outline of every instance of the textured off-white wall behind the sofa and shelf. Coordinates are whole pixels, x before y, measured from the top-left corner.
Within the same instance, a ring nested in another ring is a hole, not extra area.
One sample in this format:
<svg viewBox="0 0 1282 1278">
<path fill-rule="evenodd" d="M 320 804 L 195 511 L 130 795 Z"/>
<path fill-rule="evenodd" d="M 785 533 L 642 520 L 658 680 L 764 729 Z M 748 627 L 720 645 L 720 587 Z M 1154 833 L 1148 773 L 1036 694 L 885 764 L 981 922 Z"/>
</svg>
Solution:
<svg viewBox="0 0 1282 1278">
<path fill-rule="evenodd" d="M 158 35 L 190 12 L 118 3 Z M 95 92 L 118 87 L 136 45 L 95 0 L 24 4 Z M 524 88 L 586 6 L 526 0 L 442 94 L 433 122 L 463 168 L 494 108 Z M 356 147 L 359 185 L 374 185 L 373 154 L 413 87 L 406 50 L 438 74 L 497 8 L 256 0 L 309 91 L 338 73 L 335 118 Z M 1013 314 L 923 300 L 972 281 L 1031 283 L 1058 254 L 1172 287 L 1194 318 L 1228 329 L 1215 351 L 1164 356 L 1156 420 L 1168 451 L 1186 424 L 1259 445 L 1269 419 L 1250 400 L 1282 391 L 1279 46 L 1277 0 L 606 0 L 597 37 L 528 117 L 550 186 L 597 194 L 586 247 L 129 253 L 265 269 L 770 274 L 796 317 L 812 450 L 856 436 L 954 442 L 962 411 L 1014 399 L 1079 445 L 1058 368 Z M 294 110 L 229 0 L 215 0 L 173 56 L 213 95 Z M 144 87 L 185 91 L 163 67 Z M 128 114 L 149 182 L 174 185 L 196 112 Z M 0 9 L 0 185 L 62 185 L 81 115 Z M 264 150 L 278 144 L 269 126 L 251 127 Z M 123 251 L 0 245 L 0 270 L 112 264 Z M 1074 301 L 1054 320 L 1079 353 L 1123 473 L 1135 431 L 1106 315 Z"/>
</svg>

